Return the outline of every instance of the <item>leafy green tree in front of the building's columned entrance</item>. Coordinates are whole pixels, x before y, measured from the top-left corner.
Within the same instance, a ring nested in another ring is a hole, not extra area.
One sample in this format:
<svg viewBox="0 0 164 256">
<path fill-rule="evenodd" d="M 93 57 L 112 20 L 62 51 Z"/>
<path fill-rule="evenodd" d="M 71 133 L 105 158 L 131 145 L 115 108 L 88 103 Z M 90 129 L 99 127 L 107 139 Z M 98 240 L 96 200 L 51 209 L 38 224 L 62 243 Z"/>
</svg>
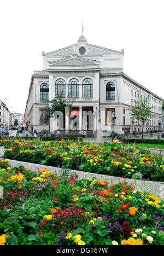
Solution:
<svg viewBox="0 0 164 256">
<path fill-rule="evenodd" d="M 61 112 L 63 114 L 63 125 L 65 127 L 65 117 L 66 117 L 66 108 L 69 107 L 69 110 L 72 110 L 73 101 L 69 100 L 69 95 L 66 98 L 63 98 L 62 95 L 58 95 L 56 98 L 50 101 L 50 106 L 45 107 L 46 112 L 49 117 L 55 117 L 55 112 Z M 58 116 L 57 116 L 58 118 Z"/>
</svg>

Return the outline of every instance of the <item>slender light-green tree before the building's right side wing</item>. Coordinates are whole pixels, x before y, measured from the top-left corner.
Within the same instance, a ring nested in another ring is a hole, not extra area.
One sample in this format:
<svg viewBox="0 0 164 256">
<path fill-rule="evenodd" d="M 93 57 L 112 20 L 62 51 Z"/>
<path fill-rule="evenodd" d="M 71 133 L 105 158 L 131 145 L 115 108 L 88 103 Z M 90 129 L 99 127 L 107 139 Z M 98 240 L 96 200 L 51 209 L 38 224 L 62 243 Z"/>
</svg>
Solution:
<svg viewBox="0 0 164 256">
<path fill-rule="evenodd" d="M 137 96 L 137 101 L 135 106 L 131 109 L 132 117 L 136 118 L 137 120 L 142 121 L 142 143 L 143 143 L 143 127 L 145 121 L 147 121 L 150 117 L 151 108 L 149 106 L 150 96 L 142 96 L 140 92 Z"/>
</svg>

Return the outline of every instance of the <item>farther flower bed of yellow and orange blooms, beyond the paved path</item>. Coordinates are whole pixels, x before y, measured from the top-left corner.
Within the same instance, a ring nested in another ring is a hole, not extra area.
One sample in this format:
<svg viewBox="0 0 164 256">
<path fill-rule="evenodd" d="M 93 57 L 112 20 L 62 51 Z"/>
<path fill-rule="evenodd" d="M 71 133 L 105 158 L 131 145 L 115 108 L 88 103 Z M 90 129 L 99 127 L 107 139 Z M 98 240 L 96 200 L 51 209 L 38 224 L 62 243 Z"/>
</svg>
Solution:
<svg viewBox="0 0 164 256">
<path fill-rule="evenodd" d="M 162 155 L 149 149 L 124 144 L 103 145 L 75 141 L 2 140 L 6 148 L 3 158 L 36 164 L 102 173 L 132 179 L 163 181 Z"/>
</svg>

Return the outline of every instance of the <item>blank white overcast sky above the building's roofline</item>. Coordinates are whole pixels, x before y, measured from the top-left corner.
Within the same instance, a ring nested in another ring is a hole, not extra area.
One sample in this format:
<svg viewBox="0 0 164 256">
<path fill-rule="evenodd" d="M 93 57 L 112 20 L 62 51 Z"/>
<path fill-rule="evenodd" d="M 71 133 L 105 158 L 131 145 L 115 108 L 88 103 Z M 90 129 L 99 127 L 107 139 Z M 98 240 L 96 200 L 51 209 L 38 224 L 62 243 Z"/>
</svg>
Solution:
<svg viewBox="0 0 164 256">
<path fill-rule="evenodd" d="M 24 114 L 31 75 L 42 70 L 42 51 L 77 43 L 82 21 L 87 43 L 124 48 L 124 73 L 164 98 L 163 7 L 163 0 L 1 1 L 0 99 L 11 112 Z"/>
</svg>

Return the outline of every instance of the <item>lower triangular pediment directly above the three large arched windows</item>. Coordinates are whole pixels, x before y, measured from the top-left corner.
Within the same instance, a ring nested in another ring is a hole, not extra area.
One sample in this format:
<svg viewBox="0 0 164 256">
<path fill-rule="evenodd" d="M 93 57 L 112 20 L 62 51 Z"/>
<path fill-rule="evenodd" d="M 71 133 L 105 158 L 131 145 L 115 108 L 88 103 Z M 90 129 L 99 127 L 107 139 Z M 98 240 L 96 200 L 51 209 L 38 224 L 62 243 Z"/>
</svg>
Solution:
<svg viewBox="0 0 164 256">
<path fill-rule="evenodd" d="M 49 61 L 49 67 L 57 67 L 57 66 L 99 66 L 98 61 L 92 61 L 92 60 L 87 60 L 83 57 L 67 57 L 62 60 L 57 60 L 57 61 Z"/>
</svg>

